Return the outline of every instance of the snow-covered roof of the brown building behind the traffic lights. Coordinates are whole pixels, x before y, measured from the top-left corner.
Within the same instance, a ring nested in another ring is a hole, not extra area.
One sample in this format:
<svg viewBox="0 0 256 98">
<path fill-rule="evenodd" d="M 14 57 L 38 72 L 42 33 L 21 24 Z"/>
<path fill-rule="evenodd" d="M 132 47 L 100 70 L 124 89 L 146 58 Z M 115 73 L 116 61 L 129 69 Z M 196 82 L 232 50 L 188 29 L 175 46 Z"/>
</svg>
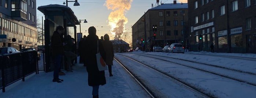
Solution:
<svg viewBox="0 0 256 98">
<path fill-rule="evenodd" d="M 161 4 L 158 5 L 157 7 L 151 8 L 149 10 L 163 10 L 163 9 L 183 9 L 183 8 L 188 8 L 188 3 L 167 3 L 167 4 Z"/>
</svg>

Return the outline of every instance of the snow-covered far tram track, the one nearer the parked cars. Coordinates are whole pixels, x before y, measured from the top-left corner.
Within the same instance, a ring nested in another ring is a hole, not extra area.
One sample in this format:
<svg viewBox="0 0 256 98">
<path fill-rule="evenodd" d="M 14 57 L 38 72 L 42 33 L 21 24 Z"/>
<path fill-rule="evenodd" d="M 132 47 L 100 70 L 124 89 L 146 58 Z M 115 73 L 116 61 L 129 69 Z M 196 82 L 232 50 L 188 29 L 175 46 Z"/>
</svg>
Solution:
<svg viewBox="0 0 256 98">
<path fill-rule="evenodd" d="M 167 61 L 170 63 L 183 65 L 185 67 L 190 67 L 190 68 L 197 69 L 200 71 L 212 73 L 214 75 L 218 75 L 218 76 L 222 76 L 222 77 L 229 78 L 232 80 L 236 80 L 238 82 L 243 82 L 246 84 L 250 84 L 252 86 L 256 86 L 256 81 L 252 80 L 253 78 L 256 77 L 256 73 L 241 71 L 241 70 L 233 69 L 233 68 L 221 67 L 219 65 L 212 65 L 212 64 L 206 64 L 206 63 L 199 63 L 196 61 L 177 59 L 174 57 L 163 57 L 163 56 L 156 56 L 156 55 L 151 55 L 151 54 L 137 54 L 137 55 L 151 57 L 154 59 L 159 59 L 159 60 Z M 165 58 L 165 59 L 160 59 L 160 57 Z M 170 59 L 175 59 L 175 60 L 170 60 Z M 181 60 L 181 61 L 179 61 L 179 60 Z M 179 62 L 183 62 L 183 61 L 188 62 L 188 64 L 179 63 Z M 199 65 L 201 65 L 201 66 L 199 66 Z M 208 68 L 205 68 L 204 66 L 207 66 Z M 204 68 L 200 68 L 200 67 L 204 67 Z M 214 70 L 212 70 L 212 69 L 214 69 Z M 223 71 L 220 71 L 220 70 L 223 70 Z M 237 77 L 238 75 L 242 75 L 242 77 Z"/>
</svg>

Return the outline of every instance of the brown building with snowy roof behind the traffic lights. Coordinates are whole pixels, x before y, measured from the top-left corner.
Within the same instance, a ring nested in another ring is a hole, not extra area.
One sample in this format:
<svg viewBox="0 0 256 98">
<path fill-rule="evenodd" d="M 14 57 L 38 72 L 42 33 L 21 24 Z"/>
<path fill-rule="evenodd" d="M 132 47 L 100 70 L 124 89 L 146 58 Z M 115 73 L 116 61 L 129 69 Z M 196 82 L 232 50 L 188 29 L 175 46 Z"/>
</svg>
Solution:
<svg viewBox="0 0 256 98">
<path fill-rule="evenodd" d="M 152 7 L 132 26 L 133 49 L 145 51 L 153 46 L 182 43 L 188 39 L 188 3 L 160 4 Z"/>
</svg>

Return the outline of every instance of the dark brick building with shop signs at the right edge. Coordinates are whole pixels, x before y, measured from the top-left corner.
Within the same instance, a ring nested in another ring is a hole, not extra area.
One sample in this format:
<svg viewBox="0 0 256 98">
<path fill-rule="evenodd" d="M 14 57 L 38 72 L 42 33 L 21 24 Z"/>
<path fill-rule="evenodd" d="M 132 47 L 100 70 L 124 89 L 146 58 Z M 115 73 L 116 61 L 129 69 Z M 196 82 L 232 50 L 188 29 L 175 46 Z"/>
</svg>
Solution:
<svg viewBox="0 0 256 98">
<path fill-rule="evenodd" d="M 188 0 L 190 50 L 256 53 L 255 10 L 255 0 Z"/>
</svg>

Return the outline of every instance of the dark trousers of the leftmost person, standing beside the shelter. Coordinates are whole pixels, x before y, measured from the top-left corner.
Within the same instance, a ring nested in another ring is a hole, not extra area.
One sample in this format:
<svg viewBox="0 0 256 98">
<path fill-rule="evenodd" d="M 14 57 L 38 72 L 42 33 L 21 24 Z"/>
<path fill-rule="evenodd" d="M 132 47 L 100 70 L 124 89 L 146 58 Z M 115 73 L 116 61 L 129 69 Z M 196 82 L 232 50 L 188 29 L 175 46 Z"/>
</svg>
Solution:
<svg viewBox="0 0 256 98">
<path fill-rule="evenodd" d="M 62 55 L 56 55 L 54 57 L 54 71 L 53 71 L 53 79 L 59 79 L 59 69 L 60 69 L 60 64 L 61 64 L 61 60 L 62 60 Z"/>
</svg>

